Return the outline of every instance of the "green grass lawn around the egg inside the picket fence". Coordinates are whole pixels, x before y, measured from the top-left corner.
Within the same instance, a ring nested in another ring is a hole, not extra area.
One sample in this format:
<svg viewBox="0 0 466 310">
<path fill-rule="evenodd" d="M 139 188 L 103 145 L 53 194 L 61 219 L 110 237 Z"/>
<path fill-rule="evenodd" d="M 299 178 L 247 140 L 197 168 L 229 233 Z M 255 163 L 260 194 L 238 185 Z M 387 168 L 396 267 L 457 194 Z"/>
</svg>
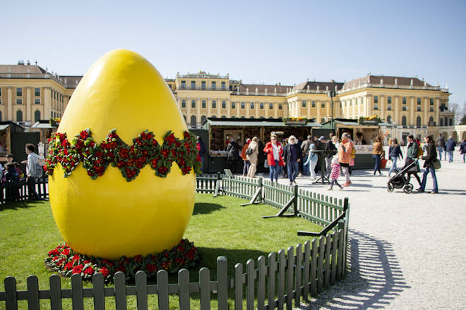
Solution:
<svg viewBox="0 0 466 310">
<path fill-rule="evenodd" d="M 227 256 L 231 277 L 236 263 L 245 265 L 248 259 L 257 260 L 261 255 L 267 256 L 270 252 L 304 244 L 309 237 L 297 236 L 298 230 L 321 230 L 321 226 L 302 218 L 264 219 L 261 216 L 277 213 L 277 209 L 265 204 L 239 206 L 244 202 L 244 199 L 234 197 L 196 195 L 193 217 L 184 237 L 199 248 L 203 259 L 198 268 L 208 267 L 212 279 L 216 278 L 217 256 Z M 20 202 L 1 206 L 0 227 L 0 290 L 4 291 L 3 279 L 8 275 L 16 278 L 18 290 L 26 290 L 28 275 L 37 275 L 40 289 L 47 290 L 48 278 L 52 273 L 45 269 L 44 258 L 49 250 L 64 242 L 56 228 L 49 203 Z M 176 275 L 173 275 L 170 282 L 175 283 L 176 279 Z M 198 280 L 197 270 L 190 272 L 190 280 Z M 71 282 L 62 278 L 61 285 L 71 287 Z M 91 286 L 85 283 L 85 287 Z M 107 299 L 107 309 L 114 309 L 113 299 Z M 149 302 L 156 305 L 156 297 L 150 296 Z M 23 309 L 26 303 L 21 303 L 20 309 Z M 232 303 L 230 300 L 231 306 Z M 71 309 L 69 299 L 64 299 L 63 304 L 64 309 Z M 176 296 L 171 296 L 170 304 L 177 309 Z M 49 308 L 47 301 L 42 301 L 41 305 L 44 309 Z M 215 302 L 212 306 L 216 309 Z M 92 299 L 85 300 L 85 307 L 92 309 Z M 192 309 L 197 308 L 198 298 L 193 294 Z M 0 303 L 0 309 L 4 309 L 4 302 Z M 128 309 L 136 309 L 136 297 L 128 297 Z"/>
</svg>

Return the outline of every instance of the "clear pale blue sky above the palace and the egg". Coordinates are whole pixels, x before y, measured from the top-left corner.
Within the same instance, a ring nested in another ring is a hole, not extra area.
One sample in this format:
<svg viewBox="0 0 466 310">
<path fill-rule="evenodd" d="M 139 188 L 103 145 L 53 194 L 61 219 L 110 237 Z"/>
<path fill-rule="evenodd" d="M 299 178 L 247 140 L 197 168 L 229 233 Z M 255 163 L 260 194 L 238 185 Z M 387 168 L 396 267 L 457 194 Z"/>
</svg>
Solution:
<svg viewBox="0 0 466 310">
<path fill-rule="evenodd" d="M 6 1 L 0 63 L 36 59 L 81 75 L 109 50 L 164 77 L 226 75 L 293 85 L 374 75 L 424 77 L 466 101 L 466 1 Z"/>
</svg>

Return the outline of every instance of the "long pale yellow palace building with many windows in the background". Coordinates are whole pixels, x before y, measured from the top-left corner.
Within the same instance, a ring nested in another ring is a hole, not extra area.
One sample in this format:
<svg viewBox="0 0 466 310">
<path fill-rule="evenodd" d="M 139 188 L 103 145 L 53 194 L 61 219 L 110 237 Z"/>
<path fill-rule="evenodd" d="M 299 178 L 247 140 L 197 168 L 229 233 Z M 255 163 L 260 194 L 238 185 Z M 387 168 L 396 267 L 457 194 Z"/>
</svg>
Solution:
<svg viewBox="0 0 466 310">
<path fill-rule="evenodd" d="M 61 118 L 81 78 L 49 73 L 29 61 L 0 65 L 0 120 L 28 127 L 40 119 Z M 453 125 L 448 88 L 417 77 L 367 75 L 349 82 L 263 85 L 199 71 L 177 73 L 166 82 L 192 128 L 200 127 L 206 118 L 296 117 L 324 123 L 330 118 L 373 115 L 397 128 Z"/>
</svg>

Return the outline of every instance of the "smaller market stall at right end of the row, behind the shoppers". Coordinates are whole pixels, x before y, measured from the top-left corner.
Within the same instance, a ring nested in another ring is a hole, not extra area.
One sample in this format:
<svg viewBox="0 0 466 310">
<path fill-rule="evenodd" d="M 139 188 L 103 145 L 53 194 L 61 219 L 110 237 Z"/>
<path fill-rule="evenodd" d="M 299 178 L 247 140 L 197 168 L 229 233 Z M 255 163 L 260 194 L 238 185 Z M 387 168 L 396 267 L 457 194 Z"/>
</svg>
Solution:
<svg viewBox="0 0 466 310">
<path fill-rule="evenodd" d="M 384 141 L 381 126 L 390 124 L 382 123 L 380 120 L 351 120 L 344 118 L 335 118 L 333 120 L 337 137 L 341 137 L 343 132 L 349 133 L 354 142 L 356 155 L 354 158 L 354 169 L 369 169 L 374 167 L 374 159 L 372 158 L 372 143 L 377 135 Z M 328 121 L 322 124 L 323 128 L 330 128 L 331 122 Z"/>
</svg>

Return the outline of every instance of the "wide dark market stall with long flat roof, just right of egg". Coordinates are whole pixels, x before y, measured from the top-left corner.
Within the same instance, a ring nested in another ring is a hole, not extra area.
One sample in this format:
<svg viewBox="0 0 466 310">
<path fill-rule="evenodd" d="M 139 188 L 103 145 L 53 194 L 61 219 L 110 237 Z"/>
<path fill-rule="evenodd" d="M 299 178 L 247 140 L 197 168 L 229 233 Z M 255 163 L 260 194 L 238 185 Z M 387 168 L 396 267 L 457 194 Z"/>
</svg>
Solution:
<svg viewBox="0 0 466 310">
<path fill-rule="evenodd" d="M 313 120 L 282 120 L 281 118 L 207 118 L 203 128 L 209 133 L 209 161 L 208 171 L 214 173 L 228 168 L 227 145 L 231 137 L 241 148 L 247 138 L 258 137 L 259 149 L 263 149 L 265 143 L 270 141 L 270 134 L 275 132 L 278 140 L 294 135 L 298 139 L 305 140 L 307 135 L 312 135 L 313 128 L 321 128 L 319 123 Z M 259 151 L 258 171 L 264 171 L 263 152 Z M 237 171 L 241 172 L 242 164 L 237 165 Z"/>
</svg>

